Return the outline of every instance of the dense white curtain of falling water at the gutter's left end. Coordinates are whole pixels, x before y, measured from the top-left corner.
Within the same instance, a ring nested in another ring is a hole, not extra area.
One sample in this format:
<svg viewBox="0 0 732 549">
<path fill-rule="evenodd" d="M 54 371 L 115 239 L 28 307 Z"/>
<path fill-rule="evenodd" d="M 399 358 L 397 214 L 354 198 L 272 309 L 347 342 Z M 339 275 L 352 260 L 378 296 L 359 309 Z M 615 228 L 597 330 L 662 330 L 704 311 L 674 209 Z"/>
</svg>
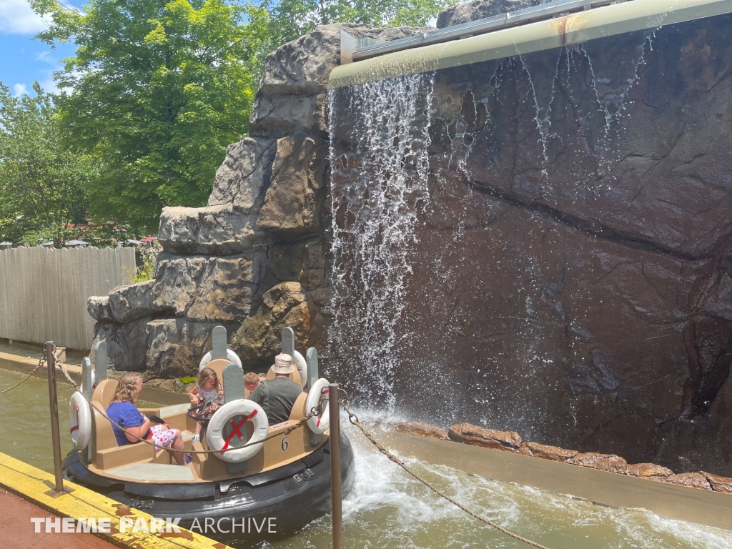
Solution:
<svg viewBox="0 0 732 549">
<path fill-rule="evenodd" d="M 415 225 L 429 200 L 432 89 L 433 75 L 419 74 L 329 94 L 336 294 L 329 353 L 336 377 L 348 370 L 363 397 L 389 407 L 399 350 L 410 337 L 397 326 L 405 320 Z"/>
</svg>

